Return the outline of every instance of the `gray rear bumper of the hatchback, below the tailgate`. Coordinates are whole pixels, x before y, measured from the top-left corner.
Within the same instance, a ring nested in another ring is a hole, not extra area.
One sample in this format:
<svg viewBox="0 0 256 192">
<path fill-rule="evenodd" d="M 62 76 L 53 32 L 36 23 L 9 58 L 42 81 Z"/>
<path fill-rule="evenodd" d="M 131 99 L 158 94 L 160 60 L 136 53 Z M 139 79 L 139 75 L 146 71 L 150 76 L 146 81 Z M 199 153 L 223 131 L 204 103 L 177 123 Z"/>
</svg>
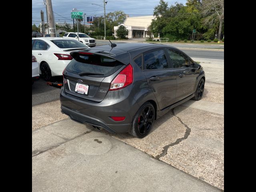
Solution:
<svg viewBox="0 0 256 192">
<path fill-rule="evenodd" d="M 60 91 L 62 113 L 79 123 L 87 123 L 104 128 L 108 132 L 123 133 L 130 131 L 132 119 L 138 110 L 138 105 L 129 98 L 114 103 L 108 96 L 102 102 L 88 102 Z M 110 104 L 112 102 L 112 104 Z M 116 122 L 110 116 L 125 116 L 126 119 Z"/>
</svg>

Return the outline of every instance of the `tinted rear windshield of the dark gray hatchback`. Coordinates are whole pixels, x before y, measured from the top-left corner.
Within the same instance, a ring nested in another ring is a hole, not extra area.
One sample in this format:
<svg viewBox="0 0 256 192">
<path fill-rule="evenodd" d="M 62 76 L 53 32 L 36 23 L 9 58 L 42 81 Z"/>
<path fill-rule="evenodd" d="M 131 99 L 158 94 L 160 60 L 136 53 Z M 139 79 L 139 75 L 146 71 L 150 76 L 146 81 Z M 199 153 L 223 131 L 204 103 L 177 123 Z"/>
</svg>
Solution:
<svg viewBox="0 0 256 192">
<path fill-rule="evenodd" d="M 72 57 L 74 59 L 68 64 L 66 70 L 76 74 L 90 73 L 86 76 L 107 77 L 124 65 L 113 58 L 102 55 L 82 55 L 73 53 Z"/>
</svg>

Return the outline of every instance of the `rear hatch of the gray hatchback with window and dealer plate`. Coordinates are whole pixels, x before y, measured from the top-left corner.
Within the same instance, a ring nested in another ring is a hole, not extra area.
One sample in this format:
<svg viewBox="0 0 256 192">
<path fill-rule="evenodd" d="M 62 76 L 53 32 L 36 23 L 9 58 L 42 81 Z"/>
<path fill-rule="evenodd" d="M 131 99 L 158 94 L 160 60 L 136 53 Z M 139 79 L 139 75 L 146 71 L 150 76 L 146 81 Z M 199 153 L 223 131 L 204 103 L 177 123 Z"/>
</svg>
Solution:
<svg viewBox="0 0 256 192">
<path fill-rule="evenodd" d="M 91 52 L 71 52 L 74 58 L 64 71 L 66 93 L 101 102 L 111 81 L 126 65 L 113 56 Z"/>
</svg>

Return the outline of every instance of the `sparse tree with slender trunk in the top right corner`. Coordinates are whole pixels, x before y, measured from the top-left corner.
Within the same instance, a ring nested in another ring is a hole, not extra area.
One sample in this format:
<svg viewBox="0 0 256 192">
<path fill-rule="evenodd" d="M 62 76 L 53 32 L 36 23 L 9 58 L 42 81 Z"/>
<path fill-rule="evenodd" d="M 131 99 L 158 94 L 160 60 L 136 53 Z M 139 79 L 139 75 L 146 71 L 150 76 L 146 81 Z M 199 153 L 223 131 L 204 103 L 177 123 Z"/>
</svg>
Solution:
<svg viewBox="0 0 256 192">
<path fill-rule="evenodd" d="M 202 9 L 207 14 L 204 20 L 205 24 L 213 26 L 215 23 L 219 23 L 218 40 L 220 40 L 222 24 L 224 24 L 224 0 L 204 0 Z"/>
</svg>

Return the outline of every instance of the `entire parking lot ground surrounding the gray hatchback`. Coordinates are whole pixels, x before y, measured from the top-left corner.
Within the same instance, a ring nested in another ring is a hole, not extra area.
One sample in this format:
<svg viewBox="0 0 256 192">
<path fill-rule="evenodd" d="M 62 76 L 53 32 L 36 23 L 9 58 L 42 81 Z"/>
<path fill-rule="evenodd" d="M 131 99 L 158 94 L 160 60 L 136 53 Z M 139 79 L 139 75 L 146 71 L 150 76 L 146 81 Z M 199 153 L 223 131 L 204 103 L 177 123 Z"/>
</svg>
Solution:
<svg viewBox="0 0 256 192">
<path fill-rule="evenodd" d="M 224 190 L 224 60 L 194 60 L 206 73 L 202 100 L 172 109 L 142 139 L 70 120 L 60 89 L 35 82 L 32 190 Z"/>
</svg>

